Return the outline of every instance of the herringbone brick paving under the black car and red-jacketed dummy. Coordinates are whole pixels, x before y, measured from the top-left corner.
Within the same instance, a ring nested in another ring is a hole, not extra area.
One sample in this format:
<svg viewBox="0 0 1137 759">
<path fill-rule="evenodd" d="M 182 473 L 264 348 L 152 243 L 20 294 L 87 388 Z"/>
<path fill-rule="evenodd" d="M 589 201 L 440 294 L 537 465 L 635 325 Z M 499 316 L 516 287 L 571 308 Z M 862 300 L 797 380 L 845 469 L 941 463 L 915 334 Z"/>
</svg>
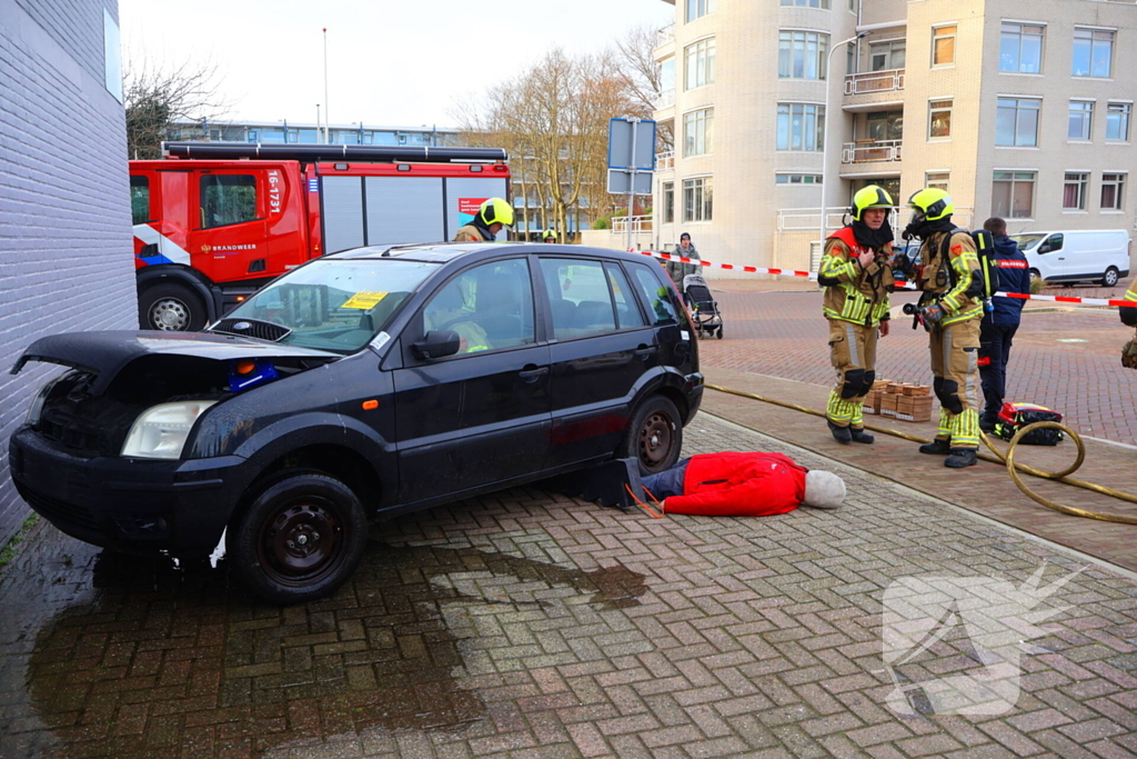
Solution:
<svg viewBox="0 0 1137 759">
<path fill-rule="evenodd" d="M 787 451 L 700 415 L 687 453 Z M 838 467 L 830 465 L 838 469 Z M 1096 564 L 1022 660 L 1015 709 L 901 717 L 881 599 L 926 572 L 1086 567 L 839 468 L 848 505 L 652 520 L 503 492 L 373 531 L 357 577 L 257 605 L 38 529 L 0 579 L 0 754 L 60 757 L 1126 757 L 1137 583 Z M 972 671 L 946 635 L 914 669 Z"/>
</svg>

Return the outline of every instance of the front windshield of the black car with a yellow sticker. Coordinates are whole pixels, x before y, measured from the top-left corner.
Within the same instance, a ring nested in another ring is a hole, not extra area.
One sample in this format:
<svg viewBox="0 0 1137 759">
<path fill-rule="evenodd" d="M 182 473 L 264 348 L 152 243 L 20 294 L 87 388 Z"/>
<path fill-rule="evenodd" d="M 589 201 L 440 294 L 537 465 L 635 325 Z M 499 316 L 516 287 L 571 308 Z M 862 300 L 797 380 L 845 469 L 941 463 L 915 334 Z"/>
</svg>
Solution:
<svg viewBox="0 0 1137 759">
<path fill-rule="evenodd" d="M 439 264 L 398 259 L 316 261 L 285 274 L 226 319 L 292 330 L 281 344 L 354 353 L 367 345 Z"/>
</svg>

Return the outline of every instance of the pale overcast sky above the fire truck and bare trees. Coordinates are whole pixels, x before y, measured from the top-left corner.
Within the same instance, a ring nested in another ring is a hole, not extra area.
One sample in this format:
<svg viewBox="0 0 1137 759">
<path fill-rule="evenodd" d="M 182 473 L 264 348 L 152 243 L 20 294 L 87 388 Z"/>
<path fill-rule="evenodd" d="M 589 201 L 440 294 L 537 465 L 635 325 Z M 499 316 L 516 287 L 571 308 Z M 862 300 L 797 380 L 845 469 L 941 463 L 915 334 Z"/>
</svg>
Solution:
<svg viewBox="0 0 1137 759">
<path fill-rule="evenodd" d="M 674 19 L 664 0 L 119 0 L 123 55 L 211 60 L 233 119 L 315 122 L 324 48 L 333 124 L 451 126 L 556 46 L 598 51 L 638 24 Z M 326 113 L 322 108 L 322 113 Z"/>
</svg>

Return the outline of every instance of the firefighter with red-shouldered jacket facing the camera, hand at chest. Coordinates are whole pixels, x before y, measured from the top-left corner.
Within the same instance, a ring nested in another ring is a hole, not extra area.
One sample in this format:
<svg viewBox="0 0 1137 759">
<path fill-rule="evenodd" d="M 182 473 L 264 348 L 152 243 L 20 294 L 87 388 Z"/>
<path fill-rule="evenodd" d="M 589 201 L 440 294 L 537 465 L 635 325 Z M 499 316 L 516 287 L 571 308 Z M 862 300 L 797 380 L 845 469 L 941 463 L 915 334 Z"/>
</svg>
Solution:
<svg viewBox="0 0 1137 759">
<path fill-rule="evenodd" d="M 888 335 L 888 292 L 894 284 L 888 261 L 893 198 L 870 184 L 853 196 L 853 222 L 825 240 L 818 283 L 825 288 L 829 353 L 837 386 L 829 394 L 825 423 L 838 443 L 872 443 L 864 431 L 864 398 L 877 379 L 877 335 Z"/>
</svg>

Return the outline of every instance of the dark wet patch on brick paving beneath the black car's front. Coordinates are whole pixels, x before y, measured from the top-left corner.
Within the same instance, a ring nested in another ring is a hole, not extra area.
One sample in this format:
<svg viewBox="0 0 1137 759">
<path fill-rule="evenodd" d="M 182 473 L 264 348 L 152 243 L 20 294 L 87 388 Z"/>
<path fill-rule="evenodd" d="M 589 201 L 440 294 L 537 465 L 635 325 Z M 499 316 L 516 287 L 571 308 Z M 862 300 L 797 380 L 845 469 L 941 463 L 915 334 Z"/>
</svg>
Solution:
<svg viewBox="0 0 1137 759">
<path fill-rule="evenodd" d="M 576 628 L 647 592 L 621 564 L 373 539 L 332 599 L 277 609 L 223 567 L 81 547 L 74 603 L 0 641 L 10 652 L 34 638 L 22 686 L 14 657 L 0 673 L 5 710 L 24 712 L 3 720 L 0 756 L 256 757 L 373 729 L 465 731 L 488 718 L 479 690 L 507 686 L 511 667 L 576 661 L 564 637 L 533 630 Z"/>
</svg>

